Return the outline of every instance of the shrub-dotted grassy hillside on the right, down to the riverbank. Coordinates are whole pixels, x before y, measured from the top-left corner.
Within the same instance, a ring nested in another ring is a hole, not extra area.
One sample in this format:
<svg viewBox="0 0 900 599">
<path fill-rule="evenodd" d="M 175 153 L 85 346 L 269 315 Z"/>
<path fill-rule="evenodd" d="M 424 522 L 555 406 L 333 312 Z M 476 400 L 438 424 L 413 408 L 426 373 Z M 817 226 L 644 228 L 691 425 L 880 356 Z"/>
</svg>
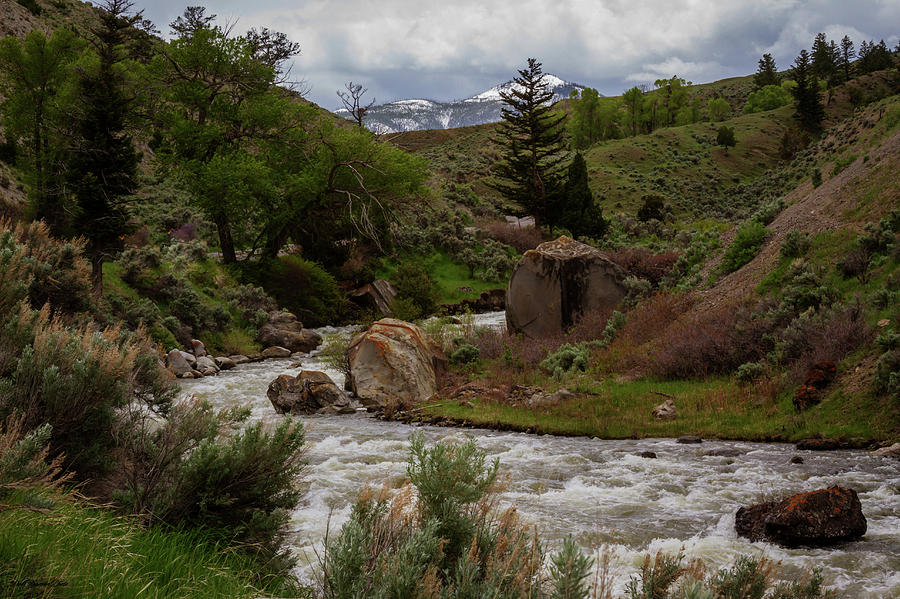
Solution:
<svg viewBox="0 0 900 599">
<path fill-rule="evenodd" d="M 714 126 L 705 123 L 591 147 L 591 186 L 607 214 L 633 220 L 643 194 L 665 195 L 673 208 L 666 226 L 707 223 L 724 231 L 718 249 L 706 250 L 694 282 L 680 291 L 648 283 L 605 347 L 584 345 L 602 324 L 530 347 L 473 338 L 481 360 L 461 374 L 485 385 L 481 397 L 450 396 L 423 417 L 600 437 L 895 438 L 900 403 L 887 380 L 898 370 L 900 331 L 896 89 L 897 75 L 882 72 L 831 92 L 824 133 L 789 161 L 779 139 L 792 125 L 791 107 L 726 121 L 738 140 L 728 155 L 710 142 Z M 467 139 L 476 138 L 435 136 L 428 151 Z M 743 243 L 734 241 L 736 225 L 764 202 L 752 219 L 763 231 L 759 246 L 728 272 L 731 246 Z M 643 243 L 646 235 L 638 229 L 618 242 Z M 677 238 L 656 241 L 686 251 Z M 551 376 L 541 360 L 566 342 L 587 352 L 588 366 Z M 817 403 L 796 408 L 807 370 L 823 360 L 835 362 L 834 382 Z M 529 408 L 513 399 L 522 384 L 576 395 Z M 675 421 L 650 416 L 665 398 L 678 405 Z"/>
</svg>

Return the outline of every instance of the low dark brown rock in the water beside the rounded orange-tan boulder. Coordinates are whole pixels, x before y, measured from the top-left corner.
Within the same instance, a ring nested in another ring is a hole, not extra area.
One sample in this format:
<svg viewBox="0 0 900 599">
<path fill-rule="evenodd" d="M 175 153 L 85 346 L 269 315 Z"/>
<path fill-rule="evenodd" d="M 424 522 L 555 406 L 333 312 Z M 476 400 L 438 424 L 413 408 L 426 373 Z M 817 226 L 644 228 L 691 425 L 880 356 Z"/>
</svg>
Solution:
<svg viewBox="0 0 900 599">
<path fill-rule="evenodd" d="M 266 396 L 279 414 L 352 414 L 361 407 L 317 370 L 280 375 L 269 383 Z"/>
</svg>

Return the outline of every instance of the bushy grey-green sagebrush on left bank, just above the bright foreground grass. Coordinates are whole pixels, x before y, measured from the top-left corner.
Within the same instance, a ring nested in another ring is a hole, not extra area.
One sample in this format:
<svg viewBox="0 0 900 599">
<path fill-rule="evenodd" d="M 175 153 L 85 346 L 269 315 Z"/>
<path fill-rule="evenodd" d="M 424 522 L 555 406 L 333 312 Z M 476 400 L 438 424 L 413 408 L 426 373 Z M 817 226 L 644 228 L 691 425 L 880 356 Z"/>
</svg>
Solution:
<svg viewBox="0 0 900 599">
<path fill-rule="evenodd" d="M 292 562 L 281 545 L 306 463 L 303 427 L 285 418 L 272 430 L 260 422 L 237 430 L 249 413 L 187 401 L 153 426 L 146 412 L 128 410 L 117 427 L 127 458 L 117 499 L 154 520 L 203 526 L 283 571 Z"/>
</svg>

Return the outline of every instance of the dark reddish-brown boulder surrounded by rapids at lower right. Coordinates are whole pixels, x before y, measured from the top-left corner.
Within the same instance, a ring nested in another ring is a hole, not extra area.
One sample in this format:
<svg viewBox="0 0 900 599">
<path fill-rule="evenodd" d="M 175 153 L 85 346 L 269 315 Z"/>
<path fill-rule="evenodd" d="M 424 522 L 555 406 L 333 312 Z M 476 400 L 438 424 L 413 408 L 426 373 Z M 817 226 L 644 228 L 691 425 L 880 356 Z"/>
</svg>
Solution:
<svg viewBox="0 0 900 599">
<path fill-rule="evenodd" d="M 856 491 L 829 487 L 742 507 L 735 515 L 734 528 L 751 541 L 786 547 L 826 546 L 862 537 L 866 517 Z"/>
</svg>

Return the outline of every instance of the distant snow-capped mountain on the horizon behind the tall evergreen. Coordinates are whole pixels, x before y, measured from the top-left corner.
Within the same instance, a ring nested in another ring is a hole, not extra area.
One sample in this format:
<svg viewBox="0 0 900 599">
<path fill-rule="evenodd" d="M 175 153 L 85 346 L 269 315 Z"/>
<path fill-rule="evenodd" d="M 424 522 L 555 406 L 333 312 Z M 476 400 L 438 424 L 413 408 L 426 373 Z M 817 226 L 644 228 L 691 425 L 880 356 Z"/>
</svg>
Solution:
<svg viewBox="0 0 900 599">
<path fill-rule="evenodd" d="M 584 86 L 565 81 L 556 75 L 544 74 L 544 81 L 553 92 L 552 102 L 568 98 L 572 90 L 583 90 Z M 464 100 L 452 102 L 434 102 L 421 98 L 397 100 L 388 104 L 373 106 L 363 119 L 366 127 L 375 133 L 396 133 L 398 131 L 416 131 L 419 129 L 452 129 L 483 123 L 496 123 L 500 120 L 500 108 L 503 101 L 501 91 L 509 91 L 517 87 L 513 81 L 496 85 Z M 337 114 L 350 117 L 347 110 L 338 110 Z"/>
</svg>

